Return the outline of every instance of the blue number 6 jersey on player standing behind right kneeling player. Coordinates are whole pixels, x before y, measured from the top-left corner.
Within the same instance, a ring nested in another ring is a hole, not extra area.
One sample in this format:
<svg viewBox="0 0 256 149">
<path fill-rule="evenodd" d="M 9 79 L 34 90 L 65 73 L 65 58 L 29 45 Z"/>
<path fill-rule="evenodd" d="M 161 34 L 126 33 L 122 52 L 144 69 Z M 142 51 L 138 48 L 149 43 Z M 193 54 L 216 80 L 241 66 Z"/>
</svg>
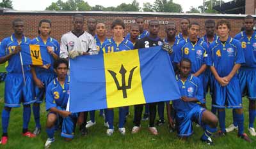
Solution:
<svg viewBox="0 0 256 149">
<path fill-rule="evenodd" d="M 202 39 L 198 39 L 195 45 L 189 39 L 180 41 L 174 51 L 176 52 L 174 62 L 179 63 L 183 58 L 191 60 L 191 73 L 196 73 L 203 64 L 206 64 L 207 44 Z"/>
</svg>

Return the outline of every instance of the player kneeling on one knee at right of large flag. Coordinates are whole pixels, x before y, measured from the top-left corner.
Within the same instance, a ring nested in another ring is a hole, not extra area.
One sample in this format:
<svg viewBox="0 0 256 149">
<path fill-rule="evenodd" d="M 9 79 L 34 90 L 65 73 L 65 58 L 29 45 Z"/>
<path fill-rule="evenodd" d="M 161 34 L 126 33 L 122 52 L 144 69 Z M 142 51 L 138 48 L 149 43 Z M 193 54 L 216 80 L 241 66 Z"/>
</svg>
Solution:
<svg viewBox="0 0 256 149">
<path fill-rule="evenodd" d="M 217 131 L 218 118 L 211 111 L 202 108 L 197 102 L 204 99 L 204 89 L 199 78 L 191 73 L 191 61 L 182 59 L 180 61 L 180 73 L 176 75 L 179 85 L 181 98 L 172 101 L 176 111 L 175 119 L 177 122 L 178 136 L 186 139 L 193 133 L 193 122 L 198 123 L 205 129 L 201 140 L 207 145 L 212 145 L 210 138 L 212 133 Z M 170 106 L 170 104 L 168 104 Z M 169 109 L 171 107 L 168 107 Z M 172 117 L 168 117 L 170 125 L 173 124 Z"/>
</svg>

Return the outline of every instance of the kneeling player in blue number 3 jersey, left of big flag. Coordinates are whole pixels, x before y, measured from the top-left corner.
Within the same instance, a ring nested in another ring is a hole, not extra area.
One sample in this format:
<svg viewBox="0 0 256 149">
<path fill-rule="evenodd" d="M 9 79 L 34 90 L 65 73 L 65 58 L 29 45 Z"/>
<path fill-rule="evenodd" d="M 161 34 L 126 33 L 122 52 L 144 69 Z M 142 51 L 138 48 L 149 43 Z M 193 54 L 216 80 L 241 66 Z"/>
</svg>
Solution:
<svg viewBox="0 0 256 149">
<path fill-rule="evenodd" d="M 67 141 L 74 137 L 74 130 L 77 121 L 77 113 L 66 111 L 69 97 L 69 76 L 68 62 L 65 59 L 58 59 L 54 62 L 54 71 L 57 78 L 54 78 L 47 86 L 46 91 L 46 110 L 49 111 L 46 122 L 46 132 L 48 139 L 45 148 L 48 148 L 54 142 L 54 131 L 56 122 L 63 118 L 61 136 Z"/>
</svg>

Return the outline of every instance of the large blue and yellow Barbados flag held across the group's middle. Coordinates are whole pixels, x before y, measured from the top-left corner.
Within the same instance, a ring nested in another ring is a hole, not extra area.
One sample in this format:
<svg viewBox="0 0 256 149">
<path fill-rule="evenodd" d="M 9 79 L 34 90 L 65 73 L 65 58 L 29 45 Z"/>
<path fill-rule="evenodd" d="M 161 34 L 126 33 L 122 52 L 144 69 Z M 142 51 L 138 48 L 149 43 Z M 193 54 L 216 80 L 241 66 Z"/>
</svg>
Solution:
<svg viewBox="0 0 256 149">
<path fill-rule="evenodd" d="M 71 112 L 179 98 L 170 57 L 160 46 L 70 59 Z"/>
</svg>

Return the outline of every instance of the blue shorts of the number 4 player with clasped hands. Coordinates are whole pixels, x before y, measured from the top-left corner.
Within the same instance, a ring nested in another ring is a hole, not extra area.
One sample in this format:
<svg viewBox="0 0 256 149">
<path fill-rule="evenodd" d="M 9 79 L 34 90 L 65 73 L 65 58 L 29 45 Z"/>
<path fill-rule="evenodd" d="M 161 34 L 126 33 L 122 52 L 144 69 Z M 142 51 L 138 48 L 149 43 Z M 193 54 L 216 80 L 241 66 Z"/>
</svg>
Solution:
<svg viewBox="0 0 256 149">
<path fill-rule="evenodd" d="M 243 108 L 242 96 L 237 76 L 234 76 L 225 87 L 222 87 L 220 83 L 214 79 L 213 89 L 214 101 L 212 106 L 216 108 Z"/>
</svg>

